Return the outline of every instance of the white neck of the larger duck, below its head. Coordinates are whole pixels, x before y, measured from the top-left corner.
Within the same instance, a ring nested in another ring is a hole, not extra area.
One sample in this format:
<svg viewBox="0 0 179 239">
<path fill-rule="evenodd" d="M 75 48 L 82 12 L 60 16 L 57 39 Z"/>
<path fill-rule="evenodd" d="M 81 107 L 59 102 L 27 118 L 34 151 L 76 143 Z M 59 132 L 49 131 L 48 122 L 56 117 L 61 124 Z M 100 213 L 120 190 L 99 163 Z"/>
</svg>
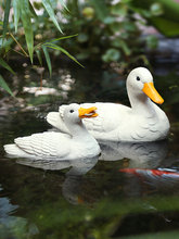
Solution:
<svg viewBox="0 0 179 239">
<path fill-rule="evenodd" d="M 145 117 L 153 117 L 155 115 L 154 103 L 144 93 L 140 96 L 129 96 L 132 112 Z"/>
</svg>

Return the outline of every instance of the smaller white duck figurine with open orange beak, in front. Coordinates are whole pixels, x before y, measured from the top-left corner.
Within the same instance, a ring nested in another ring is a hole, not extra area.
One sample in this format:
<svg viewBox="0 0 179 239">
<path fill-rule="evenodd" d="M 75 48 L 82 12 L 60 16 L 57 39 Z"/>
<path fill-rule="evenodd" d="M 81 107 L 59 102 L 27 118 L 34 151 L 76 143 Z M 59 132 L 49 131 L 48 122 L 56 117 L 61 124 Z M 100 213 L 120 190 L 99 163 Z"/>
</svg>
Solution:
<svg viewBox="0 0 179 239">
<path fill-rule="evenodd" d="M 34 134 L 14 139 L 15 143 L 5 144 L 4 150 L 20 158 L 76 160 L 97 156 L 100 147 L 81 122 L 81 118 L 98 116 L 95 110 L 95 106 L 82 109 L 79 104 L 69 104 L 64 111 L 64 122 L 71 136 L 56 131 Z"/>
</svg>

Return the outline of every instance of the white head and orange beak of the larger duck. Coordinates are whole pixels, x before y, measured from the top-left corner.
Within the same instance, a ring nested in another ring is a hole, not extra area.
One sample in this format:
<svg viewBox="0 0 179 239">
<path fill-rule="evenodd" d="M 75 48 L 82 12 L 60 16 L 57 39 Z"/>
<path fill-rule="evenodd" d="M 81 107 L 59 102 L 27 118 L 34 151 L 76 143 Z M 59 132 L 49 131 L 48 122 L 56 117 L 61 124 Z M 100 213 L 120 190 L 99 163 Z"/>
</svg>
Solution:
<svg viewBox="0 0 179 239">
<path fill-rule="evenodd" d="M 137 67 L 130 72 L 127 77 L 127 90 L 129 99 L 132 96 L 142 99 L 144 93 L 155 103 L 162 104 L 164 102 L 154 87 L 152 74 L 144 67 Z"/>
</svg>

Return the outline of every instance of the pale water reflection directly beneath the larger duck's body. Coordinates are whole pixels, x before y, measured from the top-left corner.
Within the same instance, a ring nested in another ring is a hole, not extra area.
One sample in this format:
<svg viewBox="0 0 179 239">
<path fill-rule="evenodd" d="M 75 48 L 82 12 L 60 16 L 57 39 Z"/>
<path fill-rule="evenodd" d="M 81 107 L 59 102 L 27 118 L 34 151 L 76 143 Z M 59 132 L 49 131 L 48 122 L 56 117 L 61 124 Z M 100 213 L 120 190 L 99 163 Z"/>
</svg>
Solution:
<svg viewBox="0 0 179 239">
<path fill-rule="evenodd" d="M 116 142 L 99 141 L 101 147 L 100 160 L 129 160 L 129 167 L 155 168 L 166 158 L 168 141 L 154 142 Z"/>
</svg>

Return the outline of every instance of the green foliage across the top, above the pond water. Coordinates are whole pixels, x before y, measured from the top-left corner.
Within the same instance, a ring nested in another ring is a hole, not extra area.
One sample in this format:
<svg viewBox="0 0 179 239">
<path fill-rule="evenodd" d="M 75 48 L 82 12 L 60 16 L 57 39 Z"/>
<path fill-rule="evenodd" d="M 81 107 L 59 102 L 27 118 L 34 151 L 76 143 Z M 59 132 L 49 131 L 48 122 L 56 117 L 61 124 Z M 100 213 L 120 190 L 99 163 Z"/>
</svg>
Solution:
<svg viewBox="0 0 179 239">
<path fill-rule="evenodd" d="M 177 37 L 179 4 L 172 0 L 5 0 L 1 1 L 0 64 L 13 73 L 12 55 L 46 60 L 50 74 L 64 54 L 128 66 L 156 49 L 158 34 Z M 154 27 L 151 32 L 149 26 Z M 0 76 L 2 88 L 11 90 Z"/>
</svg>

